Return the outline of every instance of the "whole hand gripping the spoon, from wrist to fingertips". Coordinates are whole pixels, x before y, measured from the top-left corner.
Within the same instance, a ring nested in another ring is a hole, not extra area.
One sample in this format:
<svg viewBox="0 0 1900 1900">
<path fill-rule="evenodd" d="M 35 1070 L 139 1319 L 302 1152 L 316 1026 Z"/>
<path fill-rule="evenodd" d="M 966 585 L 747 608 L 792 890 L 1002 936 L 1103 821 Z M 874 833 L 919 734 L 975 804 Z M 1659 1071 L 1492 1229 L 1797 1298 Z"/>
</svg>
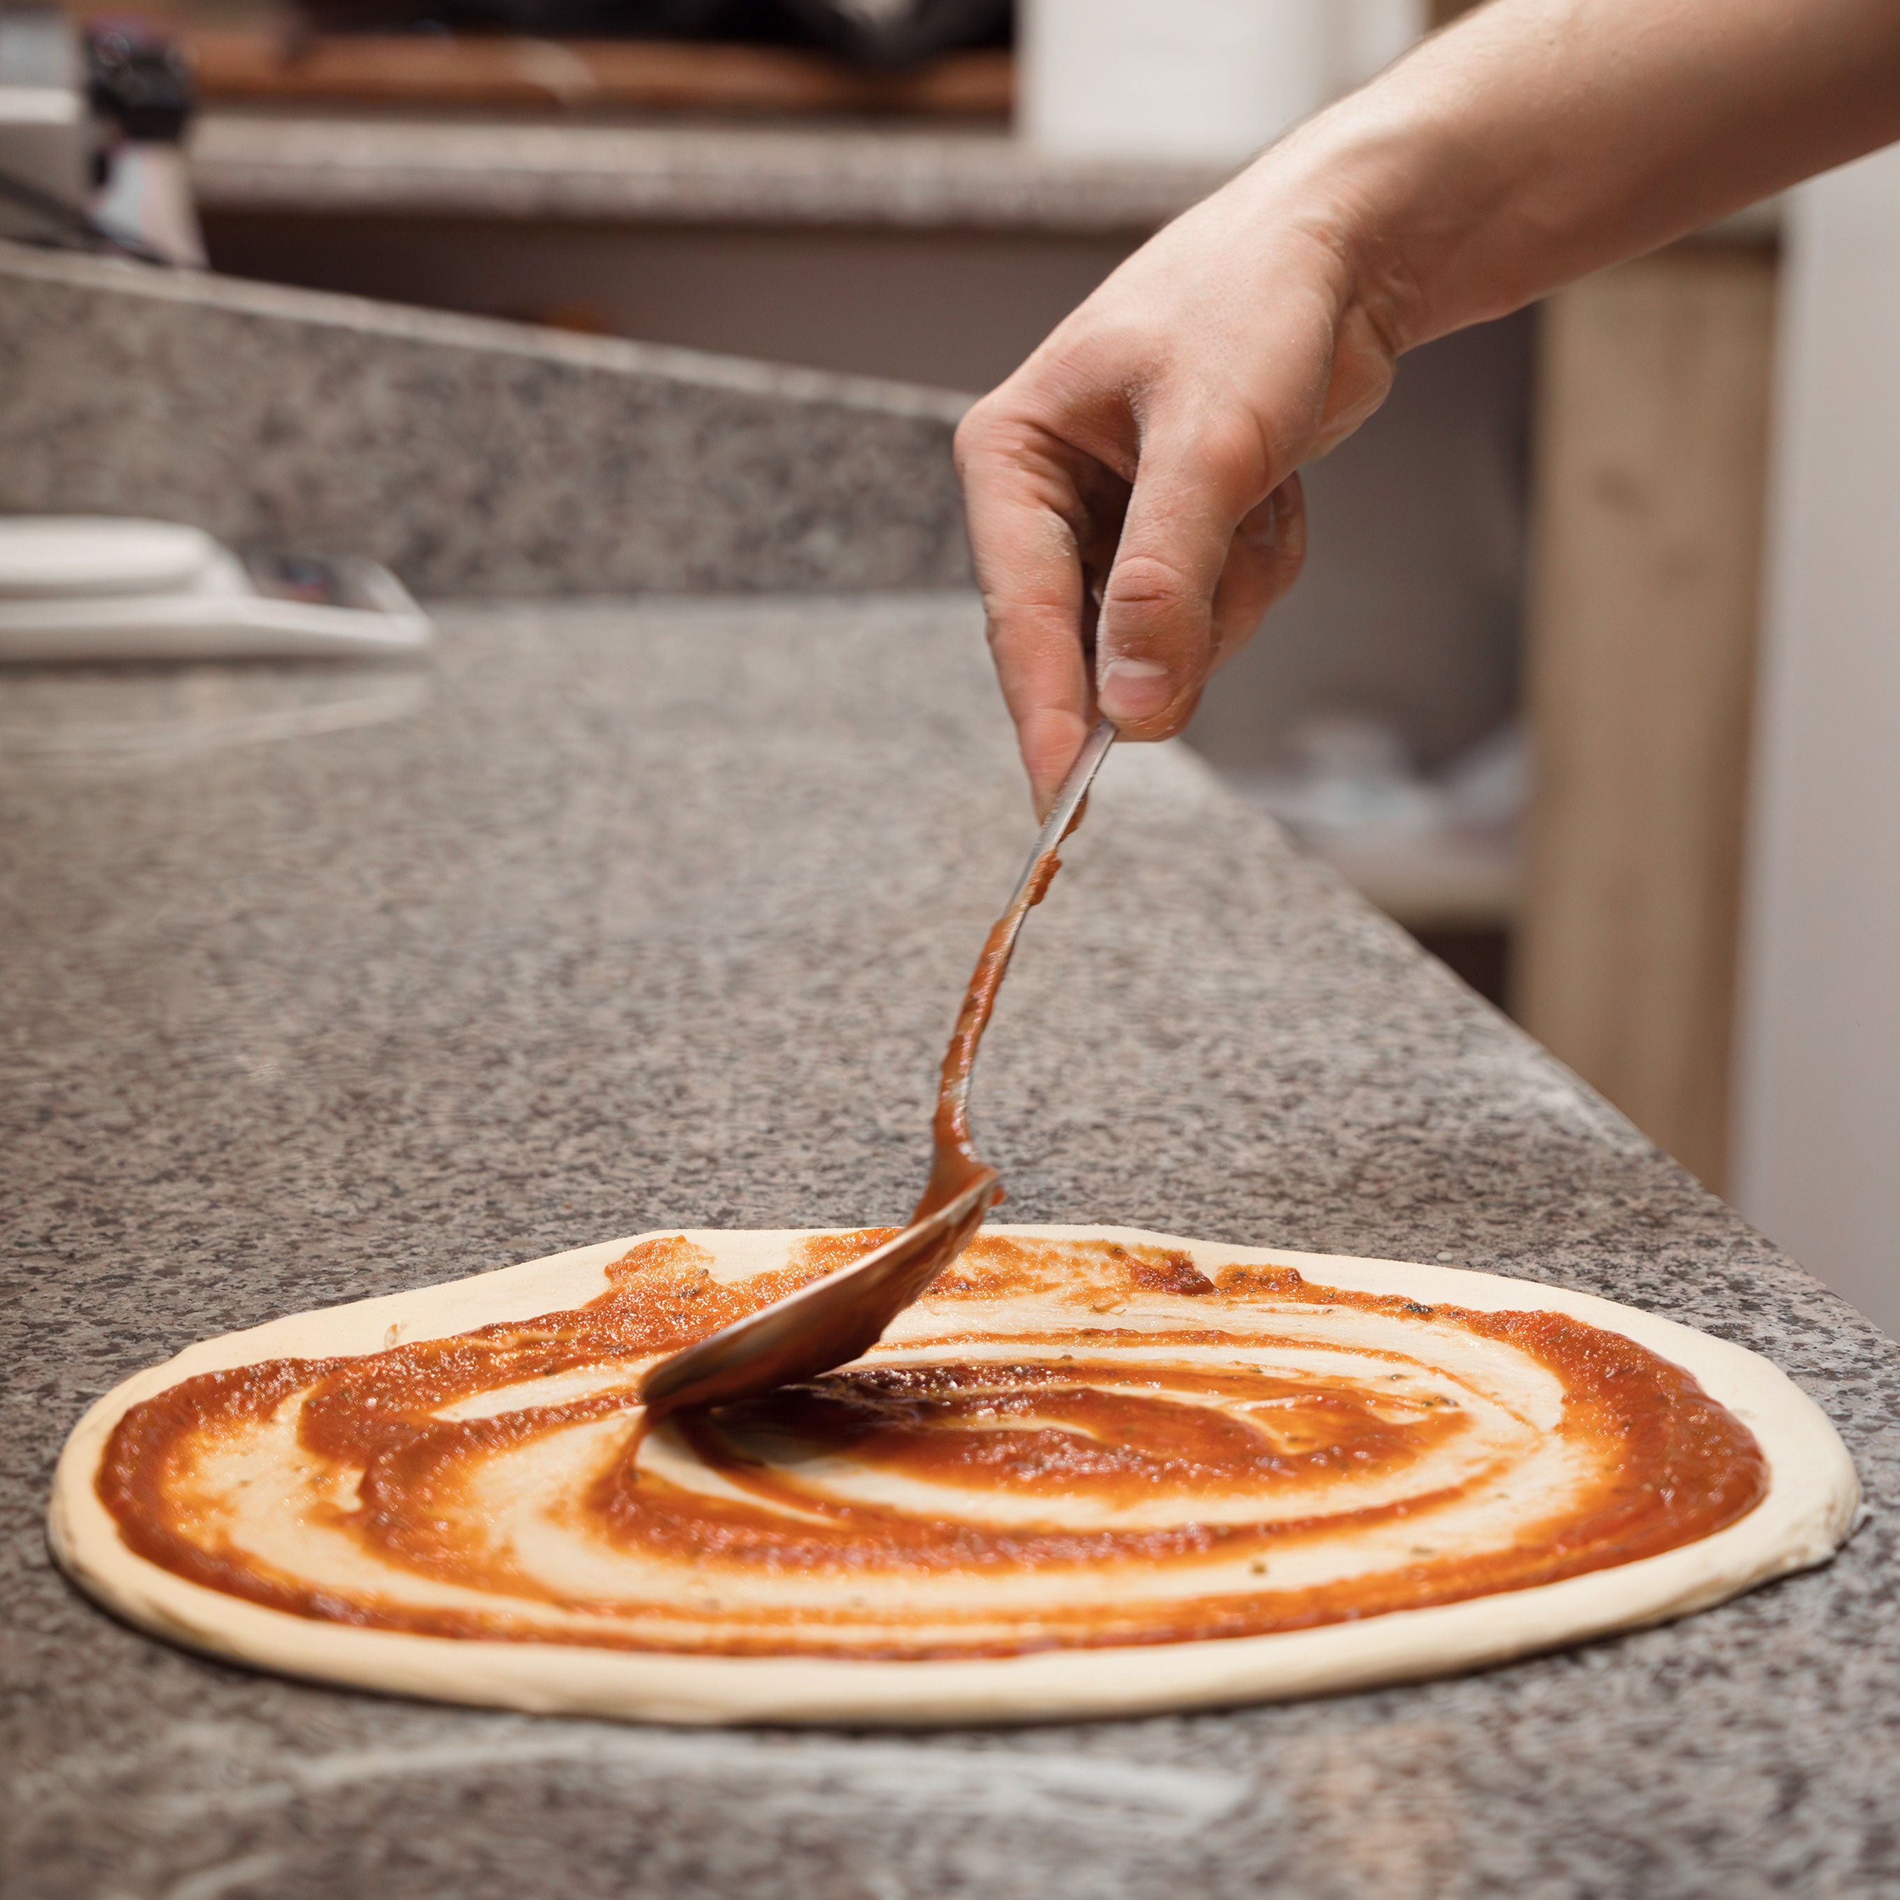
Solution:
<svg viewBox="0 0 1900 1900">
<path fill-rule="evenodd" d="M 1096 711 L 1180 732 L 1300 572 L 1296 469 L 1391 386 L 1379 298 L 1300 169 L 1269 154 L 1163 230 L 958 429 L 1037 813 Z"/>
</svg>

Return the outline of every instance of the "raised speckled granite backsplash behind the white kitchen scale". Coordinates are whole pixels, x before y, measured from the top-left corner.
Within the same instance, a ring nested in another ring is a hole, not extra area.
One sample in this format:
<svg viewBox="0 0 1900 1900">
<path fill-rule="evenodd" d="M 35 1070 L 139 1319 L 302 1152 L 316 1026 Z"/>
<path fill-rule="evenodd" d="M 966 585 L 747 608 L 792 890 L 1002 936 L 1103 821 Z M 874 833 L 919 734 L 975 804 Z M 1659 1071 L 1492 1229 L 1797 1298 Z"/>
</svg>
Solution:
<svg viewBox="0 0 1900 1900">
<path fill-rule="evenodd" d="M 0 513 L 426 593 L 942 587 L 963 399 L 0 243 Z"/>
</svg>

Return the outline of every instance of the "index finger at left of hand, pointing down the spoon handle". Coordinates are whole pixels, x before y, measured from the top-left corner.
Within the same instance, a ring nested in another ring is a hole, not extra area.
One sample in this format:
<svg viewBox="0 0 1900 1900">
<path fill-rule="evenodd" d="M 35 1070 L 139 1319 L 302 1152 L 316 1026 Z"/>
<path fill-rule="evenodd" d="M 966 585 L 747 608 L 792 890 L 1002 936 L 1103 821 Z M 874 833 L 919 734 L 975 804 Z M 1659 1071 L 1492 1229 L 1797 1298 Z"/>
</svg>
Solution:
<svg viewBox="0 0 1900 1900">
<path fill-rule="evenodd" d="M 958 469 L 990 652 L 1041 817 L 1092 716 L 1083 542 L 1096 532 L 1085 475 L 1066 445 L 978 410 L 958 431 Z"/>
</svg>

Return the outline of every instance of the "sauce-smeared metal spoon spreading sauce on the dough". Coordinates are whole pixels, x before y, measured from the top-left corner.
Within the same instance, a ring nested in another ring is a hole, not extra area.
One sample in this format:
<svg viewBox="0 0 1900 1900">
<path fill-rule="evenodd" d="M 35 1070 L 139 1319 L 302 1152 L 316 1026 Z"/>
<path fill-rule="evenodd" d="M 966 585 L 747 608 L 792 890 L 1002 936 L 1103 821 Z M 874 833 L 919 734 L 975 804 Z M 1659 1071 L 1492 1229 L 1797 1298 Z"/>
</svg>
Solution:
<svg viewBox="0 0 1900 1900">
<path fill-rule="evenodd" d="M 680 1406 L 718 1406 L 817 1378 L 866 1351 L 912 1300 L 969 1244 L 982 1216 L 1003 1199 L 996 1168 L 977 1159 L 969 1140 L 969 1077 L 977 1045 L 1003 986 L 1022 920 L 1043 901 L 1060 868 L 1056 851 L 1081 821 L 1089 785 L 1108 756 L 1115 728 L 1100 720 L 1056 792 L 1036 834 L 1030 863 L 1009 906 L 996 920 L 977 973 L 963 994 L 937 1089 L 931 1178 L 910 1226 L 876 1252 L 800 1286 L 796 1294 L 688 1345 L 650 1366 L 640 1379 L 648 1423 Z"/>
</svg>

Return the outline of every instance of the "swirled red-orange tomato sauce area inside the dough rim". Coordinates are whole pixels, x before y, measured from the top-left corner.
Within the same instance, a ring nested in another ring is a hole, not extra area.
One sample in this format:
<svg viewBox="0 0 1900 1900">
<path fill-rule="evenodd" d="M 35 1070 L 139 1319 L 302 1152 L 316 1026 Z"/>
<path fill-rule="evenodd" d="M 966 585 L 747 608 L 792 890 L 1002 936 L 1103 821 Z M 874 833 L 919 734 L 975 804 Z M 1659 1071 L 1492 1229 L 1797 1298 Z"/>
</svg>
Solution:
<svg viewBox="0 0 1900 1900">
<path fill-rule="evenodd" d="M 654 1358 L 887 1237 L 741 1281 L 648 1241 L 572 1311 L 184 1379 L 120 1419 L 99 1497 L 139 1556 L 298 1617 L 925 1659 L 1522 1590 L 1767 1492 L 1687 1372 L 1568 1315 L 1007 1233 L 857 1366 L 642 1431 Z"/>
</svg>

